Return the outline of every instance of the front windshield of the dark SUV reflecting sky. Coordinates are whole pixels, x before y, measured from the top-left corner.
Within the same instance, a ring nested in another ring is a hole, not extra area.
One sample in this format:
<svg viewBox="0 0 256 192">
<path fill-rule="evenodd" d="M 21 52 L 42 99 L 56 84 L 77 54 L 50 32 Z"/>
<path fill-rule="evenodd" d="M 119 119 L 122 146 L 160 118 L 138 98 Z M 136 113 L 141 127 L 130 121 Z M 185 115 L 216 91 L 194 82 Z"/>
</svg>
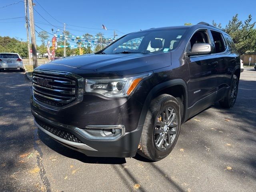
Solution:
<svg viewBox="0 0 256 192">
<path fill-rule="evenodd" d="M 148 54 L 174 50 L 187 29 L 155 30 L 128 34 L 97 54 Z"/>
</svg>

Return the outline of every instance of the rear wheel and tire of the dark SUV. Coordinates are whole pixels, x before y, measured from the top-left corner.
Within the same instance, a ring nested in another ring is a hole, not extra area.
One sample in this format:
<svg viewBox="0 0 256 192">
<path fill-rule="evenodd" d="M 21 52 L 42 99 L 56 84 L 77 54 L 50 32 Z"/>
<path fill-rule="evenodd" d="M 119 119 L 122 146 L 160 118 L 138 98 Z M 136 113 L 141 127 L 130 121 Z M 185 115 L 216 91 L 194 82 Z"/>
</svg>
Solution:
<svg viewBox="0 0 256 192">
<path fill-rule="evenodd" d="M 220 106 L 223 108 L 231 108 L 234 106 L 236 102 L 236 97 L 238 93 L 238 78 L 236 75 L 233 75 L 230 90 L 228 91 L 228 95 L 219 101 Z"/>
</svg>

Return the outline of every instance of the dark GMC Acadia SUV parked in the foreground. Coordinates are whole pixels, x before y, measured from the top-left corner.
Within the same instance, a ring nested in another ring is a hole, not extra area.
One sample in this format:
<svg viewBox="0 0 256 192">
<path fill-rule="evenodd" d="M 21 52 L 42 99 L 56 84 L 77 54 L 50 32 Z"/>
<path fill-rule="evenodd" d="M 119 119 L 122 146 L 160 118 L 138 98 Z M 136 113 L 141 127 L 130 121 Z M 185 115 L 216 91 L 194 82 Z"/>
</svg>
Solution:
<svg viewBox="0 0 256 192">
<path fill-rule="evenodd" d="M 43 132 L 88 156 L 158 161 L 182 122 L 216 101 L 234 105 L 239 77 L 240 56 L 222 30 L 152 28 L 36 68 L 31 111 Z"/>
</svg>

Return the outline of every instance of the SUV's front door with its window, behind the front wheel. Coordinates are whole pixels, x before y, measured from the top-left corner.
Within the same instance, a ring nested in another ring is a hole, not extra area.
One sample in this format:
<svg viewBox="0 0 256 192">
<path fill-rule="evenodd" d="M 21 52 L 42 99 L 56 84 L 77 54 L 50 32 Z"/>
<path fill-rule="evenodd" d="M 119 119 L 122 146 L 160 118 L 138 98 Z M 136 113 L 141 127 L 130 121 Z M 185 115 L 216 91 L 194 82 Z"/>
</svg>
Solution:
<svg viewBox="0 0 256 192">
<path fill-rule="evenodd" d="M 198 30 L 190 38 L 186 52 L 196 43 L 212 43 L 207 29 Z M 193 114 L 211 105 L 216 99 L 217 72 L 214 54 L 186 56 L 190 72 L 189 107 L 194 106 Z"/>
</svg>

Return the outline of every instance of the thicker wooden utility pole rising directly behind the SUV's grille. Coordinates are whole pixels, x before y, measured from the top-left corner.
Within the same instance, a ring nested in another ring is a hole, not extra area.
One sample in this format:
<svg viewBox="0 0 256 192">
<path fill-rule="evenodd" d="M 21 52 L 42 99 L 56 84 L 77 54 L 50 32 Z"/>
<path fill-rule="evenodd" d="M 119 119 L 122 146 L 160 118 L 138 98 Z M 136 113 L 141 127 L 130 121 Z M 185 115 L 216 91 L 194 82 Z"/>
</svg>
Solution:
<svg viewBox="0 0 256 192">
<path fill-rule="evenodd" d="M 36 56 L 36 35 L 35 35 L 35 26 L 34 26 L 34 10 L 32 0 L 28 0 L 29 6 L 29 23 L 30 23 L 30 35 L 32 43 L 32 56 L 33 56 L 33 67 L 37 67 L 37 56 Z"/>
</svg>

